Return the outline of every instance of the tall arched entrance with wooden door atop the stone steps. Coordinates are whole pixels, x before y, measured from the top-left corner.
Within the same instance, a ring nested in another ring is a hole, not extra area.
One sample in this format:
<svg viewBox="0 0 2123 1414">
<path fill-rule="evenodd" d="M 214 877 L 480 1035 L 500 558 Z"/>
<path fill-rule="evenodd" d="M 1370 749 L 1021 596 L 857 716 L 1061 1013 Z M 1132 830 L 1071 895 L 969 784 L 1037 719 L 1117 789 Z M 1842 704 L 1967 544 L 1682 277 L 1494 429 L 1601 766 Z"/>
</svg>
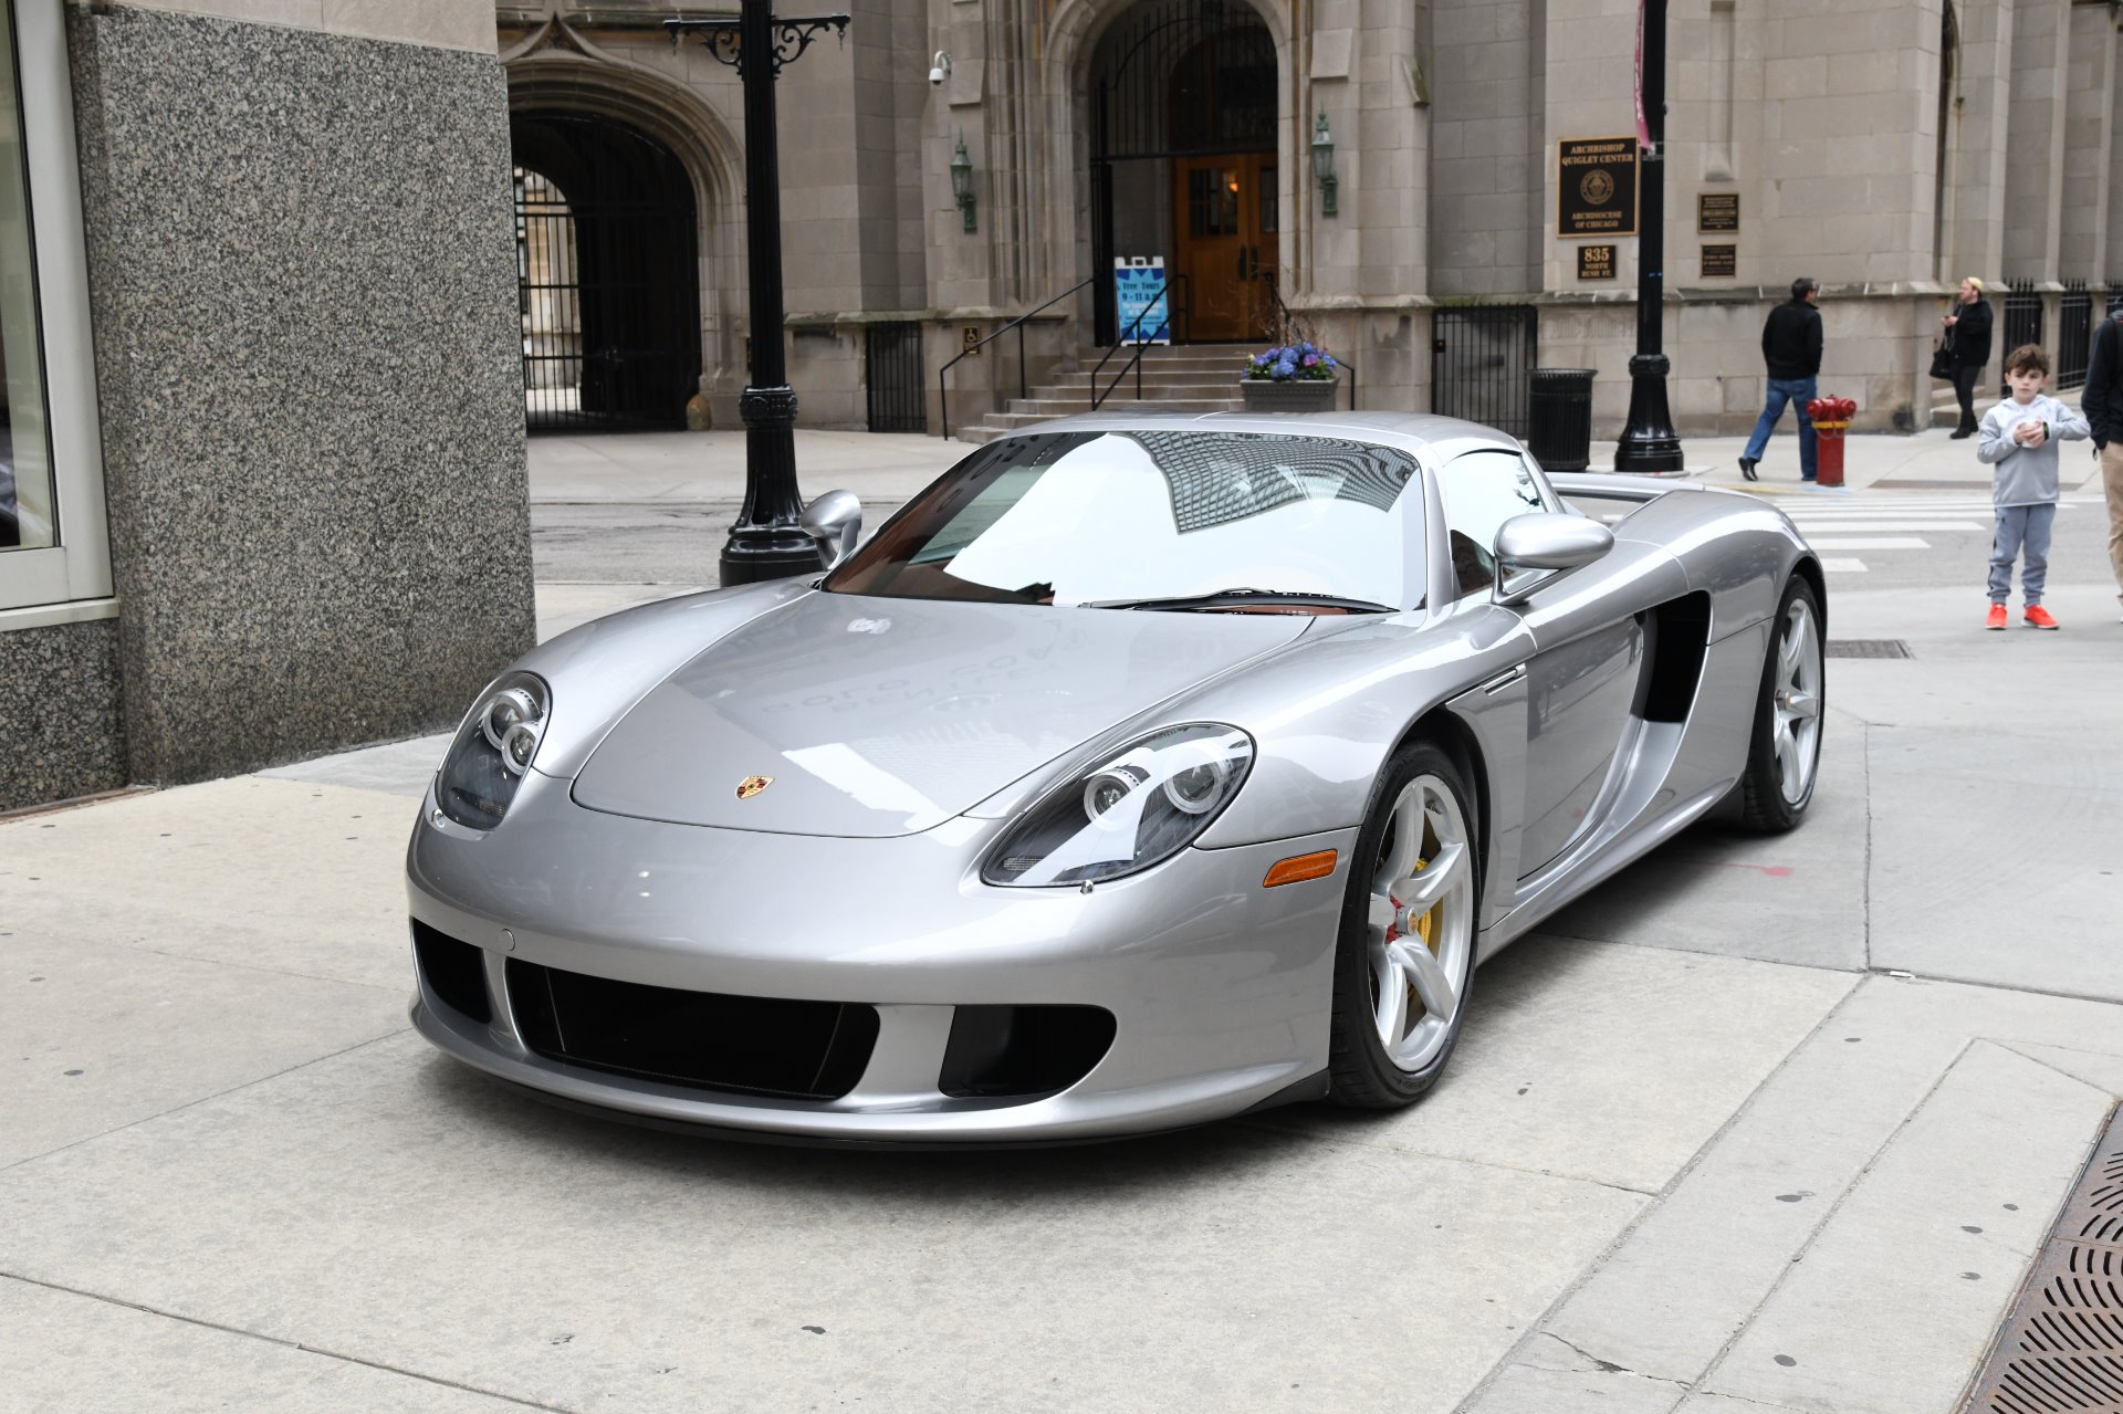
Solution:
<svg viewBox="0 0 2123 1414">
<path fill-rule="evenodd" d="M 1117 338 L 1117 255 L 1163 257 L 1180 340 L 1267 335 L 1278 191 L 1276 42 L 1253 6 L 1144 0 L 1121 15 L 1091 55 L 1098 342 Z"/>
</svg>

